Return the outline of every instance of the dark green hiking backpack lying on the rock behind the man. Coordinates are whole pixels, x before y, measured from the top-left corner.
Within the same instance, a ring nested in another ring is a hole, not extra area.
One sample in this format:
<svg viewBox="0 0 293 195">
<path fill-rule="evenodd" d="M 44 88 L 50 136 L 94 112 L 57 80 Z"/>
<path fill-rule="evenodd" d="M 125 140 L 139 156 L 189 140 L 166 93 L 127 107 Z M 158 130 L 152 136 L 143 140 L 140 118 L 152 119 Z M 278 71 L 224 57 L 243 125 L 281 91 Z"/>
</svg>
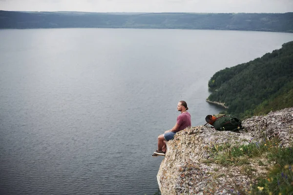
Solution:
<svg viewBox="0 0 293 195">
<path fill-rule="evenodd" d="M 213 120 L 210 120 L 209 118 L 211 118 L 210 115 L 206 117 L 206 121 L 218 131 L 236 131 L 238 129 L 244 129 L 241 124 L 242 121 L 230 115 L 217 117 Z"/>
</svg>

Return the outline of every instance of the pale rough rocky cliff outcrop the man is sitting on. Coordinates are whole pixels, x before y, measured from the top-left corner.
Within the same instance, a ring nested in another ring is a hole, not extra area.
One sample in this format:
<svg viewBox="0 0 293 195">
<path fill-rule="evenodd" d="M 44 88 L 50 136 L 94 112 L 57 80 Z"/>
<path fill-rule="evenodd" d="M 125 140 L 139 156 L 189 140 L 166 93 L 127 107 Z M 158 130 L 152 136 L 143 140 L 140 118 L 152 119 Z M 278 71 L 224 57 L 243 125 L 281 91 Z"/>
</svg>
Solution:
<svg viewBox="0 0 293 195">
<path fill-rule="evenodd" d="M 185 129 L 167 142 L 157 180 L 162 195 L 178 194 L 245 194 L 258 176 L 272 166 L 260 166 L 260 159 L 251 159 L 250 167 L 223 166 L 211 158 L 211 149 L 223 144 L 249 144 L 264 137 L 278 136 L 283 146 L 293 141 L 293 108 L 271 112 L 267 116 L 251 117 L 243 121 L 240 133 L 216 131 L 205 126 Z"/>
</svg>

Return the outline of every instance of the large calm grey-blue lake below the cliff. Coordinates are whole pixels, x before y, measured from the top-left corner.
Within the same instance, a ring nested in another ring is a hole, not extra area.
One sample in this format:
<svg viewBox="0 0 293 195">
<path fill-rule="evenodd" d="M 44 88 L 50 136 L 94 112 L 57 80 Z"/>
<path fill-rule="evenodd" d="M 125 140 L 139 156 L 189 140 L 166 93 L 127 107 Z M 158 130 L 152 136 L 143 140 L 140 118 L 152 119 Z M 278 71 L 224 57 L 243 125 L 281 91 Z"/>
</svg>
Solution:
<svg viewBox="0 0 293 195">
<path fill-rule="evenodd" d="M 153 195 L 152 158 L 186 100 L 192 126 L 217 71 L 293 34 L 158 29 L 0 30 L 0 194 Z"/>
</svg>

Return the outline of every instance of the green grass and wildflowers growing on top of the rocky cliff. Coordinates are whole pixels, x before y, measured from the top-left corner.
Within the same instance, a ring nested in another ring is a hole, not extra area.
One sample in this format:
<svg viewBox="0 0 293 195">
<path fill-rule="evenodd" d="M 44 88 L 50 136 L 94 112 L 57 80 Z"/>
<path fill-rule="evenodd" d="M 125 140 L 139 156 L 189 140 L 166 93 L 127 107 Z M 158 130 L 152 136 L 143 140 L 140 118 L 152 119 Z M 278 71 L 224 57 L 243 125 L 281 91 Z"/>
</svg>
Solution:
<svg viewBox="0 0 293 195">
<path fill-rule="evenodd" d="M 249 178 L 256 171 L 250 166 L 252 158 L 260 157 L 274 164 L 268 168 L 268 174 L 257 178 L 257 183 L 251 180 L 252 195 L 293 195 L 293 143 L 291 147 L 284 148 L 277 138 L 264 139 L 254 142 L 252 139 L 247 145 L 231 146 L 230 144 L 212 145 L 210 152 L 212 162 L 224 166 L 242 166 L 242 172 Z M 259 166 L 264 166 L 258 160 Z"/>
</svg>

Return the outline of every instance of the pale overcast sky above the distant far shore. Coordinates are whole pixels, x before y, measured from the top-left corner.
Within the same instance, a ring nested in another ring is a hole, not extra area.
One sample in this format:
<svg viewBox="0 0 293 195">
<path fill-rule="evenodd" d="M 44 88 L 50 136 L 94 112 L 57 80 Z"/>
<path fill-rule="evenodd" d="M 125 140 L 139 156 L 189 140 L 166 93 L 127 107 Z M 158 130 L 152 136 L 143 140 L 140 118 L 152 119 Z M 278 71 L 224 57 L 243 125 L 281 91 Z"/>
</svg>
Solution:
<svg viewBox="0 0 293 195">
<path fill-rule="evenodd" d="M 293 0 L 0 0 L 0 10 L 84 12 L 293 12 Z"/>
</svg>

